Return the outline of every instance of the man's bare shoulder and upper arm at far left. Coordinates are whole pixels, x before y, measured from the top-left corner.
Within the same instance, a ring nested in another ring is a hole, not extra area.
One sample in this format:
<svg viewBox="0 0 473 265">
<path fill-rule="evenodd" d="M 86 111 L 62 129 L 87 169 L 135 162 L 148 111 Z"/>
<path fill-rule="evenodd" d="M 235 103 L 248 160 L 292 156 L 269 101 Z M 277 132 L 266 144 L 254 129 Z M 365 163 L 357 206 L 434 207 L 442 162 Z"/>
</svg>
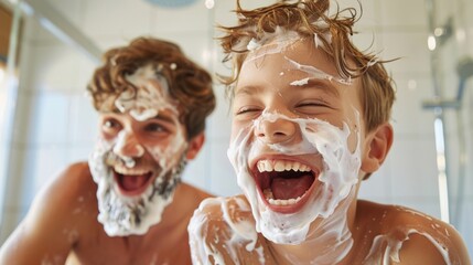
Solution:
<svg viewBox="0 0 473 265">
<path fill-rule="evenodd" d="M 97 215 L 95 190 L 87 163 L 72 165 L 45 183 L 24 220 L 3 244 L 0 263 L 65 262 L 82 232 L 90 231 L 90 223 L 95 222 L 90 221 Z"/>
</svg>

